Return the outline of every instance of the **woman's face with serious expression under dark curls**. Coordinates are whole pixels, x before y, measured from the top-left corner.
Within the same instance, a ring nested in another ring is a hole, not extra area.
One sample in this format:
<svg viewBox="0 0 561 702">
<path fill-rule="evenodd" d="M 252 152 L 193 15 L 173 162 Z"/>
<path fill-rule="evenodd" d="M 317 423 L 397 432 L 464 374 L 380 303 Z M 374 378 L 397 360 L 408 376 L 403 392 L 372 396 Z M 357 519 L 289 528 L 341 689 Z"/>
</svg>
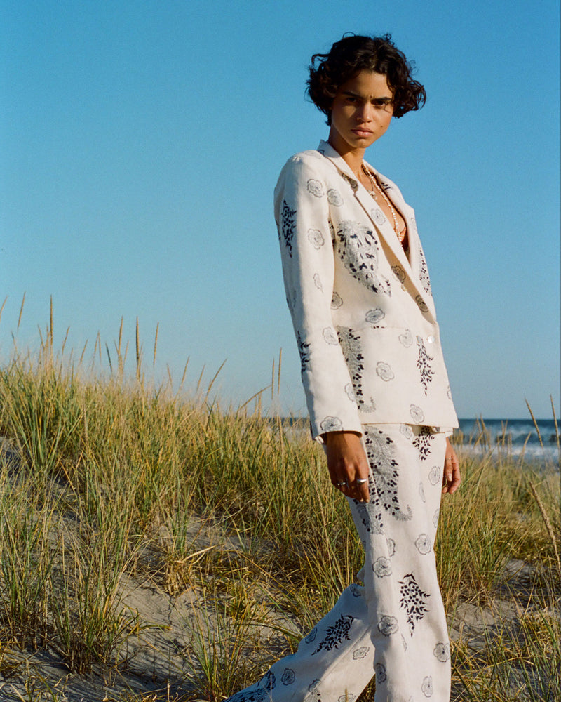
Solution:
<svg viewBox="0 0 561 702">
<path fill-rule="evenodd" d="M 393 91 L 386 76 L 360 71 L 333 98 L 329 142 L 342 156 L 364 152 L 385 133 L 393 115 Z"/>
</svg>

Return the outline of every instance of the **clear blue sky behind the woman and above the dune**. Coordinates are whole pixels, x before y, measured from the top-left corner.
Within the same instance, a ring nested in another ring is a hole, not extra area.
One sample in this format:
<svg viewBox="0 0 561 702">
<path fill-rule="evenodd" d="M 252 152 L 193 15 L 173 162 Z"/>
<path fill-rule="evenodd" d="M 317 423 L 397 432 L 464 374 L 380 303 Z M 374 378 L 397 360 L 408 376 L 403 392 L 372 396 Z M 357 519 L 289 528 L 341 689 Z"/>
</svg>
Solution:
<svg viewBox="0 0 561 702">
<path fill-rule="evenodd" d="M 135 319 L 156 373 L 205 365 L 222 402 L 270 383 L 305 413 L 272 192 L 326 138 L 304 99 L 312 53 L 391 32 L 428 100 L 367 159 L 419 232 L 460 416 L 560 405 L 557 0 L 4 0 L 0 354 L 26 302 L 34 345 L 110 349 Z M 104 363 L 107 364 L 104 358 Z"/>
</svg>

